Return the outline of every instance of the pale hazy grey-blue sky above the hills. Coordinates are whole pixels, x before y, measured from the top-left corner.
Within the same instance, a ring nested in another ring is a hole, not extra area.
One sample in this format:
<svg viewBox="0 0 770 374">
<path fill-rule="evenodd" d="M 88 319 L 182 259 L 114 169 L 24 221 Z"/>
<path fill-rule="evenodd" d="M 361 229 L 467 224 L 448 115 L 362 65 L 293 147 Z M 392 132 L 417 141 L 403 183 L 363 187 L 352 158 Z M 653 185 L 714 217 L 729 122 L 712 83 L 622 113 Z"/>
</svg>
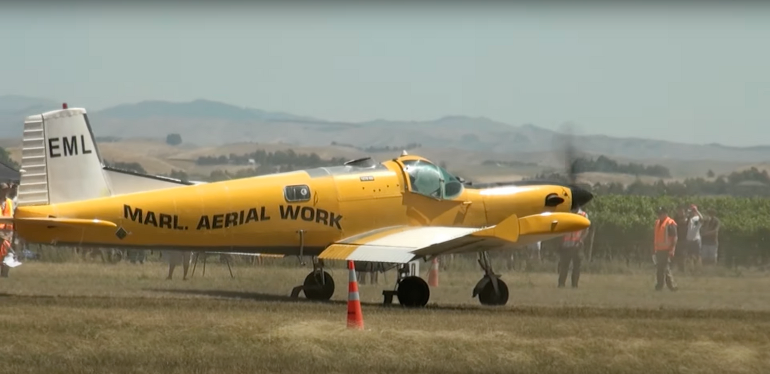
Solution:
<svg viewBox="0 0 770 374">
<path fill-rule="evenodd" d="M 2 5 L 0 95 L 770 144 L 770 7 L 242 3 Z"/>
</svg>

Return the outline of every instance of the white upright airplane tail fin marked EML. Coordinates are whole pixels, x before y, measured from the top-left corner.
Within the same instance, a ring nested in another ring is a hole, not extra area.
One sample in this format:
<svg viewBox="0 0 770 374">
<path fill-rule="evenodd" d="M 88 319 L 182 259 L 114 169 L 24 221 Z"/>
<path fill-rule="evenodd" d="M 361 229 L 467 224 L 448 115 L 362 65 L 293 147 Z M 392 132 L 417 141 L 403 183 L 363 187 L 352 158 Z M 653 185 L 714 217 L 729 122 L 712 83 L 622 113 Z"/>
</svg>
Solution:
<svg viewBox="0 0 770 374">
<path fill-rule="evenodd" d="M 18 205 L 49 205 L 112 195 L 85 109 L 24 121 Z"/>
</svg>

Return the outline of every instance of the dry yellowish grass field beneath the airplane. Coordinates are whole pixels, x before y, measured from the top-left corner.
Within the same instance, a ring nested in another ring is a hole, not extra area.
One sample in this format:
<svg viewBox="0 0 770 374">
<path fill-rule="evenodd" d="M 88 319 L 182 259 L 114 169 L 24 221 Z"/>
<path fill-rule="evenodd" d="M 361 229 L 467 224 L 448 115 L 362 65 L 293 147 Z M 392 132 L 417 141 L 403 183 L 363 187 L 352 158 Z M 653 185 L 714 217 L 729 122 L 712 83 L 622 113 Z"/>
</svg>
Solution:
<svg viewBox="0 0 770 374">
<path fill-rule="evenodd" d="M 286 262 L 286 260 L 284 260 Z M 366 331 L 346 331 L 346 271 L 333 302 L 286 297 L 308 269 L 28 262 L 0 279 L 3 372 L 766 372 L 770 278 L 508 272 L 511 303 L 470 299 L 478 271 L 440 274 L 424 310 L 383 308 L 361 286 Z M 180 272 L 178 269 L 177 272 Z M 427 269 L 423 269 L 423 273 Z M 180 275 L 180 274 L 178 274 Z"/>
</svg>

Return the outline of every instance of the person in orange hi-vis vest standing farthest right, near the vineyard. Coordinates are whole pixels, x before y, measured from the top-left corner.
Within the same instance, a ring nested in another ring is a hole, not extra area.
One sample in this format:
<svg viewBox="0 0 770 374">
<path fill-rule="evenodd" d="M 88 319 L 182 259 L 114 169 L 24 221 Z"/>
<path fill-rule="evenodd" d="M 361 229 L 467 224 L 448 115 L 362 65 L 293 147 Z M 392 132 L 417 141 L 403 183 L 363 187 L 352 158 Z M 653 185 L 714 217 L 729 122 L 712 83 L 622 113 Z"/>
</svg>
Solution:
<svg viewBox="0 0 770 374">
<path fill-rule="evenodd" d="M 666 209 L 662 206 L 658 208 L 658 219 L 655 221 L 654 232 L 653 259 L 658 270 L 658 282 L 655 284 L 655 290 L 663 289 L 663 282 L 665 282 L 668 289 L 676 291 L 678 287 L 674 282 L 674 276 L 671 275 L 671 258 L 674 257 L 678 241 L 677 224 L 674 219 L 668 216 Z"/>
</svg>

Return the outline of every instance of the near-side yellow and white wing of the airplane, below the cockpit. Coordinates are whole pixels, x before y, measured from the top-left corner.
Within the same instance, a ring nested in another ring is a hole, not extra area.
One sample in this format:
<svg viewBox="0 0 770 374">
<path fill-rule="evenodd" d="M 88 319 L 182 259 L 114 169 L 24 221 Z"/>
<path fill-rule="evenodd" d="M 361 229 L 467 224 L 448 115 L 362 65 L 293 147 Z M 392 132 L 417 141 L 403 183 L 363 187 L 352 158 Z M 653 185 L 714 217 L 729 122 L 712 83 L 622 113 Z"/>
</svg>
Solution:
<svg viewBox="0 0 770 374">
<path fill-rule="evenodd" d="M 429 255 L 481 252 L 512 243 L 528 244 L 588 228 L 581 215 L 546 212 L 511 215 L 488 227 L 395 226 L 334 242 L 318 256 L 368 262 L 407 263 Z"/>
</svg>

